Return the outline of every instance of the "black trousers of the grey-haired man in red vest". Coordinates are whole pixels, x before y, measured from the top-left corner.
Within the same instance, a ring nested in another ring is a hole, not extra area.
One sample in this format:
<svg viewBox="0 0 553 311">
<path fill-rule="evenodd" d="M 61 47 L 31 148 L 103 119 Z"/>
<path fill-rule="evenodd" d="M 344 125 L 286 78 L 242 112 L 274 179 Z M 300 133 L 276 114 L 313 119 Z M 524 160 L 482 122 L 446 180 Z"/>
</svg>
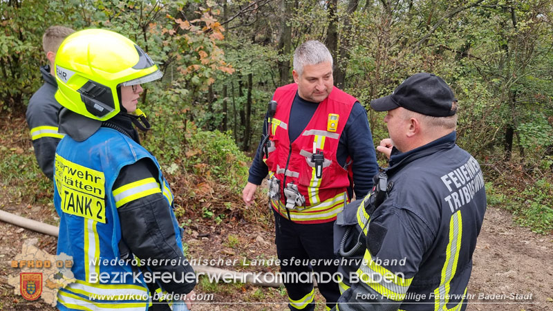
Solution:
<svg viewBox="0 0 553 311">
<path fill-rule="evenodd" d="M 324 276 L 323 279 L 316 280 L 319 292 L 326 299 L 327 310 L 330 310 L 340 296 L 338 283 L 328 277 L 334 276 L 337 272 L 337 257 L 332 242 L 334 221 L 304 225 L 293 223 L 274 210 L 273 214 L 277 254 L 281 261 L 281 272 L 285 274 L 284 286 L 290 299 L 288 307 L 290 310 L 315 310 L 312 300 L 313 283 L 304 277 L 310 275 L 310 272 L 315 272 L 314 279 Z M 301 277 L 286 279 L 292 275 Z"/>
</svg>

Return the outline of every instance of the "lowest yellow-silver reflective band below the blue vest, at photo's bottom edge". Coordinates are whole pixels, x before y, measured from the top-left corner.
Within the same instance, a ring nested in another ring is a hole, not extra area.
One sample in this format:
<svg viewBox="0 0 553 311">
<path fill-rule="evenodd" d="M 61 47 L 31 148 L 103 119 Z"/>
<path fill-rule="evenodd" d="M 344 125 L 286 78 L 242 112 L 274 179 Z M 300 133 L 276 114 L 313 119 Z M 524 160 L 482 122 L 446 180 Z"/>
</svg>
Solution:
<svg viewBox="0 0 553 311">
<path fill-rule="evenodd" d="M 111 300 L 111 299 L 110 299 Z M 104 311 L 104 310 L 122 310 L 122 311 L 139 311 L 147 310 L 147 302 L 137 303 L 129 302 L 125 303 L 120 301 L 115 296 L 113 303 L 98 303 L 75 294 L 64 292 L 60 290 L 57 292 L 57 301 L 62 303 L 64 307 L 71 308 L 75 310 L 93 310 L 93 311 Z"/>
</svg>

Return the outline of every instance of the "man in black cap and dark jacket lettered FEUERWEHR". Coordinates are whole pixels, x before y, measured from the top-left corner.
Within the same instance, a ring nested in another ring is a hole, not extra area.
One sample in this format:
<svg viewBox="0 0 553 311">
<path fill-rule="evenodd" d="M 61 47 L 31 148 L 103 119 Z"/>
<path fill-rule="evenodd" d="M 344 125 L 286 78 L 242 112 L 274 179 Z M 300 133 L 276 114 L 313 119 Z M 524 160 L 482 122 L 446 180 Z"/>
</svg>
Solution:
<svg viewBox="0 0 553 311">
<path fill-rule="evenodd" d="M 465 310 L 472 254 L 486 211 L 482 171 L 455 144 L 457 100 L 440 77 L 418 73 L 371 102 L 390 159 L 357 209 L 366 240 L 336 310 Z"/>
</svg>

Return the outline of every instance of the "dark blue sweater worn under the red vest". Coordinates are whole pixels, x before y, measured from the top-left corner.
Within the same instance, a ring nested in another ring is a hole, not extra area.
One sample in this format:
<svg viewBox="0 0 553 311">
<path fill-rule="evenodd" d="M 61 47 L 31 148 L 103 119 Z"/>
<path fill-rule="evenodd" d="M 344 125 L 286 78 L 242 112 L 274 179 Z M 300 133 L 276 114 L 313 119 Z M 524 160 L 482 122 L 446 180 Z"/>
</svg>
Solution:
<svg viewBox="0 0 553 311">
<path fill-rule="evenodd" d="M 296 93 L 288 122 L 290 142 L 294 141 L 306 129 L 311 117 L 317 110 L 317 106 L 319 106 L 319 103 L 303 100 Z M 267 117 L 265 116 L 263 134 L 266 134 L 266 122 Z M 346 122 L 344 131 L 340 135 L 336 158 L 342 167 L 346 164 L 348 156 L 353 160 L 353 190 L 355 191 L 355 196 L 363 198 L 373 187 L 373 176 L 378 172 L 378 164 L 376 162 L 373 136 L 368 126 L 367 113 L 359 102 L 355 102 L 353 105 L 348 122 Z M 247 178 L 247 181 L 255 185 L 261 185 L 263 178 L 267 176 L 268 172 L 268 167 L 259 160 L 258 148 L 252 167 L 250 167 L 250 177 Z"/>
</svg>

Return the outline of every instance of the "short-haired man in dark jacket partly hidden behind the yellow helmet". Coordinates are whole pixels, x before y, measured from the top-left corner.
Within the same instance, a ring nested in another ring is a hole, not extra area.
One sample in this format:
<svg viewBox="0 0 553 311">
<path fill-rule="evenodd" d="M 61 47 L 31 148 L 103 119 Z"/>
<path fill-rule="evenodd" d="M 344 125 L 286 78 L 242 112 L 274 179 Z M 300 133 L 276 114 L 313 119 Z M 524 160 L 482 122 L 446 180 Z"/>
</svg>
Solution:
<svg viewBox="0 0 553 311">
<path fill-rule="evenodd" d="M 39 167 L 46 177 L 53 179 L 54 154 L 64 134 L 57 131 L 57 113 L 62 106 L 54 98 L 57 83 L 54 60 L 57 48 L 75 30 L 64 26 L 51 26 L 42 36 L 42 47 L 49 64 L 40 68 L 44 84 L 30 97 L 26 119 L 30 129 L 32 147 Z"/>
</svg>

